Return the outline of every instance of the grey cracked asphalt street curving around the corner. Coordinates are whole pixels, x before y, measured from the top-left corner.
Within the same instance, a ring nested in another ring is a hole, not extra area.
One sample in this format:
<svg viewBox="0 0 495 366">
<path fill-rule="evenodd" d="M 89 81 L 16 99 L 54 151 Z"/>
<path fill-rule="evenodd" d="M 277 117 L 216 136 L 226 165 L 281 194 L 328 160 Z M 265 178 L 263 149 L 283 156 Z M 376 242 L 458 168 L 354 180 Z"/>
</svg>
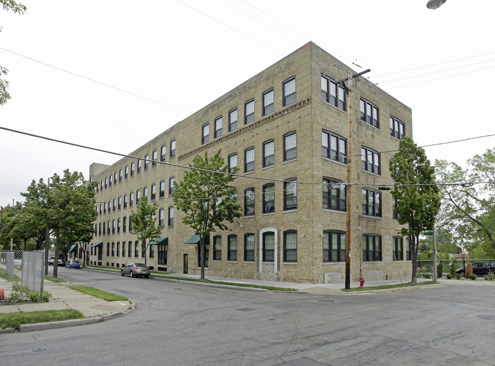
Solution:
<svg viewBox="0 0 495 366">
<path fill-rule="evenodd" d="M 0 364 L 495 364 L 495 287 L 323 295 L 64 271 L 135 311 L 104 323 L 0 334 Z"/>
</svg>

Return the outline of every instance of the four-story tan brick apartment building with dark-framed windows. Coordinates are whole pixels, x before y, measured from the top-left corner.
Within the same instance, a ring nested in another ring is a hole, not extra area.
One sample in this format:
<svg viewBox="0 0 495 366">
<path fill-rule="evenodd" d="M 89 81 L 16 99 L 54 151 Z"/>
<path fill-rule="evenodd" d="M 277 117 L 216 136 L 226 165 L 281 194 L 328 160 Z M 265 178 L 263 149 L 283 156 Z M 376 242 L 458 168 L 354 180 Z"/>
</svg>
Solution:
<svg viewBox="0 0 495 366">
<path fill-rule="evenodd" d="M 409 243 L 397 234 L 388 161 L 411 109 L 360 76 L 352 86 L 348 156 L 346 65 L 309 42 L 114 164 L 92 164 L 98 182 L 90 264 L 142 262 L 129 215 L 140 197 L 158 202 L 162 235 L 148 247 L 154 270 L 199 273 L 199 240 L 172 200 L 195 155 L 222 150 L 238 167 L 243 216 L 208 238 L 206 276 L 343 282 L 347 163 L 351 164 L 351 273 L 355 281 L 410 275 Z M 166 163 L 166 164 L 163 164 Z M 173 164 L 173 165 L 169 165 Z M 253 177 L 265 178 L 255 179 Z M 398 259 L 398 264 L 394 261 Z"/>
</svg>

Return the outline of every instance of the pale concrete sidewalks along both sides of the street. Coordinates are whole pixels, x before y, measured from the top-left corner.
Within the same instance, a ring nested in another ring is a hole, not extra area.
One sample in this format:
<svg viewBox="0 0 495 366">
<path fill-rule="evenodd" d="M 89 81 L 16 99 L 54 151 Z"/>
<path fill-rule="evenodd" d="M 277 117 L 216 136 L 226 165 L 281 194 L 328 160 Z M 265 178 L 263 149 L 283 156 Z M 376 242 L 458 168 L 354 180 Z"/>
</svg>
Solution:
<svg viewBox="0 0 495 366">
<path fill-rule="evenodd" d="M 93 269 L 83 269 L 83 270 L 93 270 Z M 116 275 L 120 275 L 120 270 L 115 269 Z M 167 277 L 174 278 L 184 278 L 184 279 L 199 279 L 199 275 L 184 275 L 182 273 L 170 273 L 168 275 L 156 275 L 153 273 L 150 279 L 158 281 L 180 281 L 174 279 L 167 279 Z M 252 284 L 258 286 L 270 286 L 278 288 L 296 289 L 297 292 L 313 293 L 313 294 L 344 294 L 348 292 L 342 292 L 344 283 L 331 283 L 331 284 L 308 284 L 308 283 L 295 283 L 295 282 L 277 282 L 277 281 L 261 281 L 261 280 L 249 280 L 249 279 L 234 279 L 234 278 L 223 278 L 223 277 L 210 277 L 207 276 L 208 280 L 215 282 L 226 282 L 229 284 Z M 411 279 L 402 279 L 402 283 L 410 282 Z M 431 281 L 430 279 L 418 279 L 418 282 Z M 480 278 L 477 281 L 472 280 L 447 280 L 439 279 L 439 285 L 428 285 L 428 286 L 414 286 L 401 288 L 404 289 L 417 289 L 417 288 L 428 288 L 432 286 L 454 286 L 454 285 L 474 285 L 474 286 L 495 286 L 495 281 L 484 281 Z M 201 284 L 205 286 L 222 286 L 221 284 L 208 284 L 201 282 L 194 282 L 195 284 Z M 365 288 L 373 286 L 382 285 L 395 285 L 400 284 L 400 280 L 380 280 L 380 281 L 366 281 Z M 96 322 L 102 322 L 108 319 L 112 319 L 121 316 L 125 313 L 131 312 L 135 308 L 134 301 L 106 301 L 100 298 L 96 298 L 82 292 L 73 290 L 69 288 L 68 283 L 55 283 L 51 281 L 45 281 L 45 291 L 51 294 L 49 302 L 39 302 L 39 303 L 26 303 L 26 304 L 12 304 L 12 305 L 2 305 L 0 306 L 0 313 L 18 313 L 18 312 L 31 312 L 38 310 L 62 310 L 62 309 L 76 309 L 80 311 L 85 318 L 84 319 L 74 319 L 74 320 L 64 320 L 60 322 L 48 322 L 48 323 L 36 323 L 36 324 L 24 324 L 20 326 L 19 331 L 32 331 L 41 329 L 51 329 L 66 326 L 90 324 Z M 351 282 L 351 288 L 359 287 L 359 282 Z M 243 287 L 243 289 L 249 289 Z M 255 291 L 267 291 L 263 289 L 252 289 Z M 373 291 L 359 291 L 351 292 L 354 294 L 370 293 L 370 292 L 388 292 L 397 291 L 398 289 L 390 290 L 373 290 Z M 13 331 L 13 330 L 10 330 Z"/>
</svg>

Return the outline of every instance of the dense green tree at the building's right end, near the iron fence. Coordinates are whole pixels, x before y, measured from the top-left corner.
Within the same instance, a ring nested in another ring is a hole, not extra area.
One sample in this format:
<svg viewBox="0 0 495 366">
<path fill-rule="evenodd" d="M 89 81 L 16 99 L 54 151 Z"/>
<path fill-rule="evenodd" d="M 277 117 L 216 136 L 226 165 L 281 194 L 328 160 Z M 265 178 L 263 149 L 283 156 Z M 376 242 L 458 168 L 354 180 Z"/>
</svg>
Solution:
<svg viewBox="0 0 495 366">
<path fill-rule="evenodd" d="M 399 152 L 389 163 L 390 175 L 395 181 L 393 198 L 398 200 L 397 221 L 406 225 L 399 233 L 411 238 L 412 278 L 417 282 L 417 255 L 419 235 L 433 230 L 435 217 L 440 208 L 439 188 L 435 184 L 435 167 L 426 158 L 410 136 L 399 143 Z"/>
</svg>

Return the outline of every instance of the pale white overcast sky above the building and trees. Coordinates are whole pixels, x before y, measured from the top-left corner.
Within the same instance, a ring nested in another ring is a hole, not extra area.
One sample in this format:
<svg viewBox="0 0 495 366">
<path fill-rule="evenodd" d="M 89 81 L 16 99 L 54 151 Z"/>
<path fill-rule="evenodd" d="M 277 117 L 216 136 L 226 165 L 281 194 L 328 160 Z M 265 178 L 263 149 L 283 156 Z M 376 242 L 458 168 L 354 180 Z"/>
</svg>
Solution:
<svg viewBox="0 0 495 366">
<path fill-rule="evenodd" d="M 495 1 L 23 0 L 0 9 L 0 127 L 128 154 L 308 41 L 413 111 L 420 145 L 495 134 Z M 359 65 L 353 65 L 353 63 Z M 490 107 L 490 105 L 492 107 Z M 383 121 L 382 124 L 384 125 Z M 388 126 L 388 124 L 387 124 Z M 495 136 L 425 147 L 461 165 Z M 0 130 L 0 205 L 119 157 Z"/>
</svg>

